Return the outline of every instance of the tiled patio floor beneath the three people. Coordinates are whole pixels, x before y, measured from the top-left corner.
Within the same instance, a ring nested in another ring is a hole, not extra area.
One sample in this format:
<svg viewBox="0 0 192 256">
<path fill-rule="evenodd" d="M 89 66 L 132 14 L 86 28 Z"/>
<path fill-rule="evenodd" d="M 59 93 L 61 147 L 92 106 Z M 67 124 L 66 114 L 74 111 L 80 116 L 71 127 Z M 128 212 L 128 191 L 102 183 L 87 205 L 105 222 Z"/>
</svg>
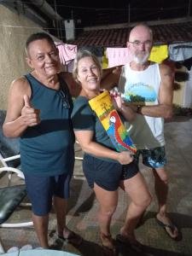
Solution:
<svg viewBox="0 0 192 256">
<path fill-rule="evenodd" d="M 148 207 L 143 217 L 143 224 L 137 228 L 137 239 L 145 245 L 145 252 L 140 255 L 155 256 L 191 256 L 192 255 L 192 119 L 180 117 L 167 122 L 165 125 L 166 152 L 168 157 L 167 170 L 169 172 L 170 191 L 168 210 L 170 216 L 182 230 L 183 240 L 173 241 L 165 231 L 155 223 L 157 203 L 154 195 L 154 178 L 150 170 L 141 166 L 141 171 L 148 183 L 148 188 L 154 201 Z M 51 212 L 49 222 L 49 242 L 58 249 L 77 253 L 84 256 L 102 255 L 102 247 L 98 236 L 96 221 L 97 202 L 95 195 L 88 188 L 82 176 L 81 162 L 77 160 L 75 177 L 72 182 L 72 198 L 67 212 L 68 226 L 84 237 L 80 247 L 73 247 L 62 243 L 56 236 L 55 213 Z M 113 236 L 119 232 L 125 219 L 126 207 L 129 199 L 119 190 L 119 205 L 113 216 Z M 30 210 L 18 209 L 14 218 L 30 218 Z M 23 246 L 27 243 L 38 247 L 38 241 L 33 228 L 0 229 L 0 236 L 6 249 L 12 246 Z M 129 247 L 117 243 L 120 255 L 137 255 Z"/>
</svg>

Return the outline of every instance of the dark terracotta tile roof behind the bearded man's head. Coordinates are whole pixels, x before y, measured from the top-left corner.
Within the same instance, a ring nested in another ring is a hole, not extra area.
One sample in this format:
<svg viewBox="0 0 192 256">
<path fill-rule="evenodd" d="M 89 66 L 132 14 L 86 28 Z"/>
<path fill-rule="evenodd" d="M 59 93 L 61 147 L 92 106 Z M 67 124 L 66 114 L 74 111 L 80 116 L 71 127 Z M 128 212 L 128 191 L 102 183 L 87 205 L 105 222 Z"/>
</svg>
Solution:
<svg viewBox="0 0 192 256">
<path fill-rule="evenodd" d="M 150 26 L 154 44 L 192 42 L 192 21 Z M 100 29 L 80 33 L 70 44 L 78 46 L 125 47 L 130 27 Z"/>
</svg>

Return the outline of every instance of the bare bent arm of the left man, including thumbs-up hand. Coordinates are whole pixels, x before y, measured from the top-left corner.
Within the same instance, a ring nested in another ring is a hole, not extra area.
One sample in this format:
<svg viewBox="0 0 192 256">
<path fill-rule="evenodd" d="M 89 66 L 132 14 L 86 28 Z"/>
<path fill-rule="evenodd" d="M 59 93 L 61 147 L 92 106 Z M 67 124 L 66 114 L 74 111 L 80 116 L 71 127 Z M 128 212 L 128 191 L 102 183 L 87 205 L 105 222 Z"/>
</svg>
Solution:
<svg viewBox="0 0 192 256">
<path fill-rule="evenodd" d="M 20 137 L 28 126 L 38 125 L 38 111 L 32 108 L 31 89 L 25 78 L 16 79 L 10 86 L 8 109 L 3 124 L 6 137 Z"/>
</svg>

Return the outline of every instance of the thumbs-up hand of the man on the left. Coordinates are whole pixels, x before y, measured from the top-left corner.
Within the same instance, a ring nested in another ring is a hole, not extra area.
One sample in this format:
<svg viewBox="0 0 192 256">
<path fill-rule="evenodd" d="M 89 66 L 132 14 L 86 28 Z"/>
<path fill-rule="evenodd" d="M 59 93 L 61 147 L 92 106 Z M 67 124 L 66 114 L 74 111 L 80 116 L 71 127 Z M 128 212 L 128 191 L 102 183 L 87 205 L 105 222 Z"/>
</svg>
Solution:
<svg viewBox="0 0 192 256">
<path fill-rule="evenodd" d="M 21 117 L 27 126 L 38 125 L 41 120 L 39 118 L 40 109 L 32 108 L 29 96 L 23 96 L 24 107 L 21 109 Z"/>
</svg>

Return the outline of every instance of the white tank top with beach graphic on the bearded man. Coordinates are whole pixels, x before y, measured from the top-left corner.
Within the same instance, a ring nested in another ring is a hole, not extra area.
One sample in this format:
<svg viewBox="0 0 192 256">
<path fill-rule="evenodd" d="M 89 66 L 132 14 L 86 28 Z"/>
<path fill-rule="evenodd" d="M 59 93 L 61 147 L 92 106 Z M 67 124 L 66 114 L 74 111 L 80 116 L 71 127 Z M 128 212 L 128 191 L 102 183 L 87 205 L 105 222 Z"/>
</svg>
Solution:
<svg viewBox="0 0 192 256">
<path fill-rule="evenodd" d="M 160 68 L 154 63 L 143 71 L 135 71 L 130 63 L 122 68 L 119 91 L 125 102 L 136 105 L 157 105 L 160 90 Z M 165 145 L 164 119 L 137 114 L 136 119 L 125 123 L 138 149 L 156 148 Z"/>
</svg>

